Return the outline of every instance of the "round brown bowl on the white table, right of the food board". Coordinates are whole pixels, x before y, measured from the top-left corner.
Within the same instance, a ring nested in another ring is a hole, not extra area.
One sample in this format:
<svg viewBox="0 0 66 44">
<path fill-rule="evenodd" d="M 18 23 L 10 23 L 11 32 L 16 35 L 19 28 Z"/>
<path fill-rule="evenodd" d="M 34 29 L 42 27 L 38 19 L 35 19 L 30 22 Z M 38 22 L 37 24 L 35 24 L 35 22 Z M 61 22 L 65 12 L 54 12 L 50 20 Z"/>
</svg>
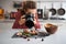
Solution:
<svg viewBox="0 0 66 44">
<path fill-rule="evenodd" d="M 54 34 L 57 31 L 57 25 L 54 25 L 54 24 L 47 23 L 44 25 L 44 28 L 50 34 Z"/>
</svg>

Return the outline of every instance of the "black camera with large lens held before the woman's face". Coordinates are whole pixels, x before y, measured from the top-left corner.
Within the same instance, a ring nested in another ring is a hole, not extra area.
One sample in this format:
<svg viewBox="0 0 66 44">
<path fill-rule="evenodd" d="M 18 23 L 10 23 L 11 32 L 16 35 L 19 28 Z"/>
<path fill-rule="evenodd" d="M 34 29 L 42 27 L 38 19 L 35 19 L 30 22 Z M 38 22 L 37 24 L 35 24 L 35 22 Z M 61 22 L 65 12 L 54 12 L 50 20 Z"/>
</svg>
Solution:
<svg viewBox="0 0 66 44">
<path fill-rule="evenodd" d="M 32 29 L 34 26 L 34 14 L 32 13 L 26 13 L 25 14 L 25 25 L 29 28 L 29 29 Z"/>
</svg>

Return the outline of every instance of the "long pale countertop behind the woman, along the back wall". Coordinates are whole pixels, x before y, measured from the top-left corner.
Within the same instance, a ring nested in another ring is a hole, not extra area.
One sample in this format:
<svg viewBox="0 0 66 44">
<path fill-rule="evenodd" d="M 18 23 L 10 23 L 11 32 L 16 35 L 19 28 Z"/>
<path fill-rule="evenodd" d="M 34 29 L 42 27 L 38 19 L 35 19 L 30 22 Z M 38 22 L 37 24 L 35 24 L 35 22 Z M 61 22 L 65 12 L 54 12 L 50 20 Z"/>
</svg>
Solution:
<svg viewBox="0 0 66 44">
<path fill-rule="evenodd" d="M 6 19 L 6 20 L 0 20 L 0 23 L 12 23 L 15 20 L 13 19 Z M 66 22 L 66 20 L 43 20 L 43 19 L 38 19 L 38 22 Z"/>
</svg>

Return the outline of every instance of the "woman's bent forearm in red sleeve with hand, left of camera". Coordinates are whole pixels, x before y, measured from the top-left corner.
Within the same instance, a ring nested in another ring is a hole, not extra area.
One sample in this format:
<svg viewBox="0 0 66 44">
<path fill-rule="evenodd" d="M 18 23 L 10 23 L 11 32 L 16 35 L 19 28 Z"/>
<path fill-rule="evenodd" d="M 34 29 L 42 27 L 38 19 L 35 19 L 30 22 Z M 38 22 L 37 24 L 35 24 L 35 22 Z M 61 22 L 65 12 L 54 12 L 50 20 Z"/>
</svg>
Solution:
<svg viewBox="0 0 66 44">
<path fill-rule="evenodd" d="M 24 23 L 25 23 L 25 19 L 23 19 L 24 15 L 20 16 L 19 20 L 15 20 L 15 22 L 13 23 L 12 29 L 21 29 L 21 28 L 25 28 Z"/>
</svg>

